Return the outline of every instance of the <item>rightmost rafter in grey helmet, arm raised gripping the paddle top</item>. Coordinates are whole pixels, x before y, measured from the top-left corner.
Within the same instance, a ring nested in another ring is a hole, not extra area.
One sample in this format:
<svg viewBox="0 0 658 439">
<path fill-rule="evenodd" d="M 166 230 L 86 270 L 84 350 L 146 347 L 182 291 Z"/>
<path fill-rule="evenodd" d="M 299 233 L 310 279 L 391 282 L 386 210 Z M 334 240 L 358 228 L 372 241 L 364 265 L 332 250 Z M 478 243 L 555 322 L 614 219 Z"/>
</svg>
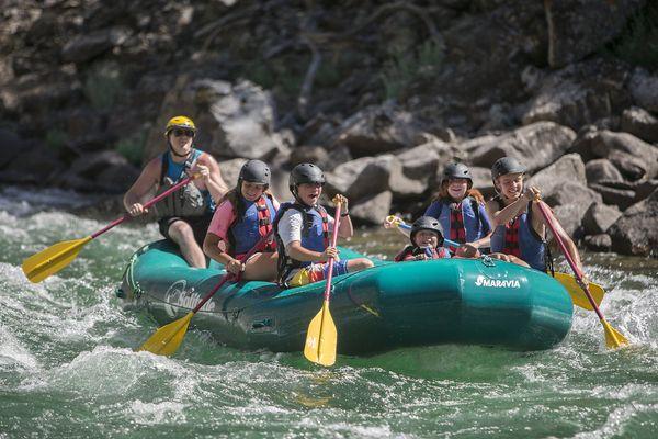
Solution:
<svg viewBox="0 0 658 439">
<path fill-rule="evenodd" d="M 533 201 L 540 194 L 538 189 L 524 190 L 525 171 L 525 167 L 512 157 L 502 157 L 491 167 L 491 179 L 498 193 L 487 203 L 494 226 L 491 257 L 546 271 L 552 268 L 553 261 L 546 245 L 546 224 L 536 205 L 543 201 Z M 553 214 L 551 209 L 547 211 Z M 571 258 L 583 272 L 576 244 L 557 221 L 553 223 Z"/>
</svg>

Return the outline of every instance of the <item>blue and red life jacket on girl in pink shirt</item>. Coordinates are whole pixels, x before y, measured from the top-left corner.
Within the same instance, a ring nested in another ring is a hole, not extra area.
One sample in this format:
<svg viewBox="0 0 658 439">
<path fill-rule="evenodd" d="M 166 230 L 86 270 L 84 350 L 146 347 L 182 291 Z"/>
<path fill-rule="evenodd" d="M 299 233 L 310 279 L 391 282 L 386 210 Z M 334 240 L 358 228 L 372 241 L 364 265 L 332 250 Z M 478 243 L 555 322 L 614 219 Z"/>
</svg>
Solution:
<svg viewBox="0 0 658 439">
<path fill-rule="evenodd" d="M 232 257 L 247 254 L 262 237 L 268 236 L 272 229 L 273 218 L 276 216 L 276 209 L 270 194 L 263 194 L 254 202 L 245 199 L 241 202 L 247 205 L 247 209 L 241 216 L 236 216 L 228 227 L 227 234 Z M 274 240 L 268 240 L 262 243 L 256 251 L 275 250 Z"/>
</svg>

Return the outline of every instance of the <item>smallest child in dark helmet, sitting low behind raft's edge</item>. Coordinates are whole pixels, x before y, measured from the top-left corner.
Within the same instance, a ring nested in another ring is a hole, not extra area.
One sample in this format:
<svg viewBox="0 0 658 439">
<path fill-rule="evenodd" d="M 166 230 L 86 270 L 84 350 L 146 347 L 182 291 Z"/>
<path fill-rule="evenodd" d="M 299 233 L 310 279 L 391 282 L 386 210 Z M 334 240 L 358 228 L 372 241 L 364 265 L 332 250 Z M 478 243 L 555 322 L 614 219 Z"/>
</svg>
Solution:
<svg viewBox="0 0 658 439">
<path fill-rule="evenodd" d="M 396 262 L 450 258 L 450 251 L 443 247 L 443 228 L 431 216 L 416 219 L 409 239 L 411 245 L 395 257 Z"/>
</svg>

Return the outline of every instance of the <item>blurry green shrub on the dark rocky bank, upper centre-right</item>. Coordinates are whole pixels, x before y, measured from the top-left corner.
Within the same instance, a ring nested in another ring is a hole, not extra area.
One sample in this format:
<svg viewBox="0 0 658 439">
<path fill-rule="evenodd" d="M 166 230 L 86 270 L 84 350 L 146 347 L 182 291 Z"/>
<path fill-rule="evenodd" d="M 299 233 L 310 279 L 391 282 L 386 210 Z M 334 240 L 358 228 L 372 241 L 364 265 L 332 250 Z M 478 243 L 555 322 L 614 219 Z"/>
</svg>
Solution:
<svg viewBox="0 0 658 439">
<path fill-rule="evenodd" d="M 416 53 L 397 53 L 384 64 L 382 82 L 386 99 L 400 99 L 415 81 L 436 75 L 444 59 L 443 47 L 426 41 Z"/>
</svg>

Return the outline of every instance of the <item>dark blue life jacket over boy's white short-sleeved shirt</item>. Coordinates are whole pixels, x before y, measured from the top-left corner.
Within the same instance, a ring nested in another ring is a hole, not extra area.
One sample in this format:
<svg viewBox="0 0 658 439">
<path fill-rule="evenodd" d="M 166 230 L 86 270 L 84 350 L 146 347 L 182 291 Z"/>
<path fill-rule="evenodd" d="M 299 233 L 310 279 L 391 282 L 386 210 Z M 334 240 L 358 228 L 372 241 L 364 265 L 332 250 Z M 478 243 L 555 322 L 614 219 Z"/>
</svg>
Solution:
<svg viewBox="0 0 658 439">
<path fill-rule="evenodd" d="M 281 236 L 279 236 L 279 222 L 288 210 L 295 210 L 302 213 L 302 247 L 313 251 L 325 251 L 329 247 L 329 218 L 327 211 L 321 205 L 307 206 L 297 202 L 286 202 L 281 204 L 276 217 L 274 218 L 274 237 L 276 239 L 276 250 L 279 251 L 279 281 L 285 285 L 285 279 L 292 270 L 308 267 L 311 262 L 299 261 L 291 258 L 286 251 Z"/>
</svg>

